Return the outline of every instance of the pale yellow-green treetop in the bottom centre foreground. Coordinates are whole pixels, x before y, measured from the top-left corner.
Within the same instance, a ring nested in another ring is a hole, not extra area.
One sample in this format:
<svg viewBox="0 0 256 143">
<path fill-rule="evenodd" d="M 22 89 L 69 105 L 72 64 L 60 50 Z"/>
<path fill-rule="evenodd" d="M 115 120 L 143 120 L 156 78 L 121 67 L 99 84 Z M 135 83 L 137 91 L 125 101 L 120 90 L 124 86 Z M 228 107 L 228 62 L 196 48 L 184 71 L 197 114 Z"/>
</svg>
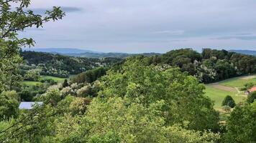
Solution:
<svg viewBox="0 0 256 143">
<path fill-rule="evenodd" d="M 96 97 L 83 117 L 58 119 L 55 142 L 216 142 L 219 134 L 166 126 L 164 102 L 145 107 L 122 97 Z"/>
</svg>

